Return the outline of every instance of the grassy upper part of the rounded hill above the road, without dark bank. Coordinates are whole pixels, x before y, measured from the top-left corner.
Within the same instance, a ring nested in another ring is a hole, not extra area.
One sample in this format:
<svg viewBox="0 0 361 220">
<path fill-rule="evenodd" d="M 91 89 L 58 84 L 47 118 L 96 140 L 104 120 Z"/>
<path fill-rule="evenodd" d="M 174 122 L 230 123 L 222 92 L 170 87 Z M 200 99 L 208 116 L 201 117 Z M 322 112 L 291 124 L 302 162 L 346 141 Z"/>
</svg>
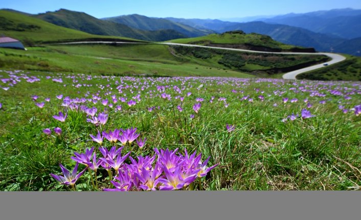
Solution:
<svg viewBox="0 0 361 220">
<path fill-rule="evenodd" d="M 270 48 L 281 48 L 283 50 L 289 50 L 295 46 L 287 45 L 272 38 L 260 35 L 260 34 L 239 34 L 239 33 L 223 33 L 223 34 L 210 34 L 202 37 L 176 39 L 171 40 L 174 43 L 193 43 L 193 44 L 252 44 L 255 46 L 266 46 Z"/>
</svg>

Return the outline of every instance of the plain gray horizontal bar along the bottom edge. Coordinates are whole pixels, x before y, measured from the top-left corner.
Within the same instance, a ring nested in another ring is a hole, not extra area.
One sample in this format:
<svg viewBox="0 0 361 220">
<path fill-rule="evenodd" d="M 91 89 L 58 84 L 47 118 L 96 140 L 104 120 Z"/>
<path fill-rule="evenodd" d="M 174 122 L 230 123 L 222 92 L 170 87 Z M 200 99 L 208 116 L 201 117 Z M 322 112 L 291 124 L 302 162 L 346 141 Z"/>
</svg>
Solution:
<svg viewBox="0 0 361 220">
<path fill-rule="evenodd" d="M 0 192 L 0 219 L 360 219 L 360 191 Z"/>
</svg>

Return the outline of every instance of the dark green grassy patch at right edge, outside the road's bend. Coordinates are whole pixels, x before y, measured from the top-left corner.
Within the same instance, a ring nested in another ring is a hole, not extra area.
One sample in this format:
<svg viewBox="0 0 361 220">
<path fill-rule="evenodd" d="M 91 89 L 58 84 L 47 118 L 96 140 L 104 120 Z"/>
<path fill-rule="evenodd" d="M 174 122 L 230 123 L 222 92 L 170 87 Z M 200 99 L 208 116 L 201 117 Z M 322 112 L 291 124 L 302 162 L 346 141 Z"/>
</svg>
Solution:
<svg viewBox="0 0 361 220">
<path fill-rule="evenodd" d="M 343 54 L 347 60 L 319 70 L 305 72 L 297 79 L 361 81 L 361 58 Z"/>
</svg>

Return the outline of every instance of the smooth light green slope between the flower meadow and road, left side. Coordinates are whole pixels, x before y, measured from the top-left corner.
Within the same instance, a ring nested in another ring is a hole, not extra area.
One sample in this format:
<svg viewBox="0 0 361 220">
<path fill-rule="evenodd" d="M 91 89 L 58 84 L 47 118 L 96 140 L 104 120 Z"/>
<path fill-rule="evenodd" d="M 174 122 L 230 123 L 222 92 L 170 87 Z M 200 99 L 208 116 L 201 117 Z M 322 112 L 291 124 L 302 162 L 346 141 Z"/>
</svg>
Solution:
<svg viewBox="0 0 361 220">
<path fill-rule="evenodd" d="M 147 53 L 144 53 L 147 52 Z M 170 54 L 165 45 L 63 45 L 0 48 L 0 68 L 82 72 L 103 75 L 223 76 L 250 78 L 239 71 L 211 68 Z"/>
</svg>

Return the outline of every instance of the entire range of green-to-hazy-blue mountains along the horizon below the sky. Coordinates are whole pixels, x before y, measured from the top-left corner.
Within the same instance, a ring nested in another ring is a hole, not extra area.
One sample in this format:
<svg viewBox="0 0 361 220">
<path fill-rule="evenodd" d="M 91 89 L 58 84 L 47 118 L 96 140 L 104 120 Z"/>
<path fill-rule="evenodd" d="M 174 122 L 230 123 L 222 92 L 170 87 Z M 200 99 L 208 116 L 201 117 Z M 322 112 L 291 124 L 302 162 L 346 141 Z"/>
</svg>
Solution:
<svg viewBox="0 0 361 220">
<path fill-rule="evenodd" d="M 286 44 L 313 47 L 318 51 L 361 56 L 361 10 L 354 9 L 254 17 L 251 22 L 154 18 L 138 14 L 98 19 L 83 12 L 66 9 L 37 15 L 21 13 L 57 26 L 104 36 L 166 41 L 242 30 L 245 33 L 268 35 Z"/>
</svg>

